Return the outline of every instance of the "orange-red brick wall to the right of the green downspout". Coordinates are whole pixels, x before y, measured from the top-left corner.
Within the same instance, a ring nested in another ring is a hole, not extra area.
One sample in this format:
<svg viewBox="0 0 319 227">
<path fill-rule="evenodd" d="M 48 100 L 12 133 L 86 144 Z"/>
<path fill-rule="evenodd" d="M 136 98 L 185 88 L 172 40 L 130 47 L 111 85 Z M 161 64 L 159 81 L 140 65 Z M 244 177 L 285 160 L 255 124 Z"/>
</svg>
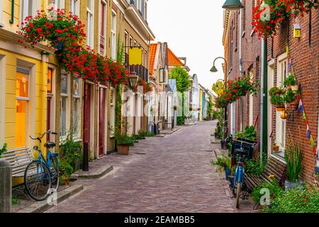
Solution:
<svg viewBox="0 0 319 227">
<path fill-rule="evenodd" d="M 297 18 L 291 18 L 283 23 L 279 33 L 274 39 L 268 40 L 268 60 L 274 59 L 274 84 L 277 77 L 277 57 L 286 52 L 289 45 L 293 70 L 298 84 L 301 87 L 301 98 L 304 110 L 313 138 L 317 141 L 318 134 L 318 106 L 319 106 L 319 13 L 312 11 L 312 19 L 309 14 Z M 293 24 L 301 26 L 301 38 L 293 38 Z M 309 30 L 311 26 L 311 31 Z M 310 35 L 309 35 L 310 34 Z M 302 120 L 299 111 L 291 111 L 293 114 L 286 120 L 286 147 L 292 143 L 301 143 L 303 150 L 303 179 L 308 182 L 313 180 L 315 156 L 310 148 L 310 141 L 306 137 L 306 123 Z M 275 114 L 275 111 L 273 111 Z M 274 115 L 273 115 L 274 116 Z M 273 117 L 274 119 L 274 117 Z M 272 122 L 274 129 L 276 121 Z M 274 137 L 275 137 L 274 130 Z"/>
</svg>

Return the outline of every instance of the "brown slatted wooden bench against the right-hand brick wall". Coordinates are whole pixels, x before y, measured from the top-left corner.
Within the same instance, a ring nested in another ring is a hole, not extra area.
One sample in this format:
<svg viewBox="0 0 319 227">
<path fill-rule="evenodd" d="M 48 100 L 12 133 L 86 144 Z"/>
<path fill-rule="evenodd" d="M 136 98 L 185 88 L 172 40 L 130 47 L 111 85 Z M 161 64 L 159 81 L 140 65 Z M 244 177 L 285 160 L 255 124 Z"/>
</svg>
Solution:
<svg viewBox="0 0 319 227">
<path fill-rule="evenodd" d="M 271 182 L 272 179 L 269 178 L 269 175 L 274 175 L 281 187 L 284 186 L 284 181 L 288 179 L 286 164 L 277 160 L 275 157 L 270 157 L 267 165 L 261 175 L 252 175 L 245 173 L 245 183 L 247 189 L 252 192 L 254 187 L 257 187 L 258 184 L 262 184 L 264 181 Z"/>
</svg>

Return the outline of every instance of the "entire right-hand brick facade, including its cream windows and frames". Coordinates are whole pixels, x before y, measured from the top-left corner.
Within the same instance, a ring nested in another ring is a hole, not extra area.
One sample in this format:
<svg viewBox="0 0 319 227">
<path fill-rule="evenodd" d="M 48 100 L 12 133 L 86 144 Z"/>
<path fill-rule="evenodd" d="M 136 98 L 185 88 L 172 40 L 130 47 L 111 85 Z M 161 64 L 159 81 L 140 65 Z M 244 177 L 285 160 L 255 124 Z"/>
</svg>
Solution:
<svg viewBox="0 0 319 227">
<path fill-rule="evenodd" d="M 252 27 L 252 11 L 255 1 L 242 1 L 245 6 L 240 11 L 226 12 L 224 16 L 223 45 L 228 67 L 228 79 L 250 75 L 253 79 L 261 79 L 262 74 L 262 40 Z M 301 99 L 306 112 L 308 125 L 315 140 L 318 137 L 319 106 L 319 13 L 313 10 L 305 16 L 284 21 L 274 38 L 267 40 L 267 86 L 281 87 L 286 75 L 291 72 L 291 63 L 296 80 L 301 87 Z M 293 38 L 294 24 L 301 26 L 301 38 Z M 289 48 L 287 55 L 286 47 Z M 242 65 L 241 65 L 242 64 Z M 224 67 L 225 69 L 225 67 Z M 268 96 L 268 155 L 284 162 L 284 150 L 292 143 L 301 143 L 303 152 L 302 179 L 313 181 L 315 155 L 306 136 L 307 125 L 299 111 L 292 111 L 287 106 L 289 118 L 283 121 L 279 112 L 270 104 Z M 228 132 L 234 133 L 254 125 L 260 136 L 261 96 L 245 96 L 228 106 Z M 272 145 L 281 146 L 281 153 L 273 153 Z M 317 164 L 316 164 L 317 163 Z"/>
</svg>

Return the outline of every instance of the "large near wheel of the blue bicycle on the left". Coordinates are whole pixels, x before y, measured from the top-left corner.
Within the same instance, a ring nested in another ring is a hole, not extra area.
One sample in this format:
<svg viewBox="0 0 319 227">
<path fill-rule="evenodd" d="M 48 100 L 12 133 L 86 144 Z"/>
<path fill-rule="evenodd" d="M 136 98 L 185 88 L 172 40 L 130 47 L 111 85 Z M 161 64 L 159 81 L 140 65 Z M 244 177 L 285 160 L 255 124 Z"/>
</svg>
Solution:
<svg viewBox="0 0 319 227">
<path fill-rule="evenodd" d="M 51 188 L 51 175 L 47 165 L 39 160 L 30 162 L 24 171 L 24 185 L 28 195 L 36 201 L 43 201 L 49 196 Z"/>
</svg>

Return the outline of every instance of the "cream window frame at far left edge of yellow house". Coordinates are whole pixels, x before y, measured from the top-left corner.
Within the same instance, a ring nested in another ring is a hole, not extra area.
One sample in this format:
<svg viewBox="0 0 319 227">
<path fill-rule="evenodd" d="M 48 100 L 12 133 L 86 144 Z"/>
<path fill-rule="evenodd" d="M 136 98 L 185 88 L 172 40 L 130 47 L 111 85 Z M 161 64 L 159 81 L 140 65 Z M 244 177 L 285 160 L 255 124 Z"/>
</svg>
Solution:
<svg viewBox="0 0 319 227">
<path fill-rule="evenodd" d="M 6 57 L 0 55 L 0 148 L 4 144 L 4 126 L 6 113 Z"/>
</svg>

